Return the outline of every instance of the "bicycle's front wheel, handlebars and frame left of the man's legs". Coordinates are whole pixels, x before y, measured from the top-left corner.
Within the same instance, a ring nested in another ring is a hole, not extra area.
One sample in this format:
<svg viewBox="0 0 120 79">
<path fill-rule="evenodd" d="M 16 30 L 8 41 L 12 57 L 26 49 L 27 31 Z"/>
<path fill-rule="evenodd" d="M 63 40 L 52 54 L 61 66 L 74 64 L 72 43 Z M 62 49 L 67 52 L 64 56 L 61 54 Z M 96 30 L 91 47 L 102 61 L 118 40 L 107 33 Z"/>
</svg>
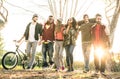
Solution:
<svg viewBox="0 0 120 79">
<path fill-rule="evenodd" d="M 27 55 L 19 49 L 19 46 L 21 44 L 17 44 L 16 40 L 13 40 L 15 42 L 16 50 L 15 52 L 9 51 L 6 52 L 2 57 L 2 66 L 6 70 L 11 70 L 15 68 L 18 64 L 18 61 L 20 59 L 20 63 L 22 64 L 23 69 L 27 68 L 28 65 L 28 57 Z"/>
</svg>

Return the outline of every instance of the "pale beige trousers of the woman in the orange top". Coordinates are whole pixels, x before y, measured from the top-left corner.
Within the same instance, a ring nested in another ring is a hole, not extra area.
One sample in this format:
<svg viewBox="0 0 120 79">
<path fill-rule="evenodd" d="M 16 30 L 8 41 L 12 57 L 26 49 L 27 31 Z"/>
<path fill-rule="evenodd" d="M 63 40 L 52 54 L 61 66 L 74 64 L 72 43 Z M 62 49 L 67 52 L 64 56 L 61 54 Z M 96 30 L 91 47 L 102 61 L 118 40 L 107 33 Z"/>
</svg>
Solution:
<svg viewBox="0 0 120 79">
<path fill-rule="evenodd" d="M 57 68 L 63 66 L 63 41 L 55 41 L 54 62 Z"/>
</svg>

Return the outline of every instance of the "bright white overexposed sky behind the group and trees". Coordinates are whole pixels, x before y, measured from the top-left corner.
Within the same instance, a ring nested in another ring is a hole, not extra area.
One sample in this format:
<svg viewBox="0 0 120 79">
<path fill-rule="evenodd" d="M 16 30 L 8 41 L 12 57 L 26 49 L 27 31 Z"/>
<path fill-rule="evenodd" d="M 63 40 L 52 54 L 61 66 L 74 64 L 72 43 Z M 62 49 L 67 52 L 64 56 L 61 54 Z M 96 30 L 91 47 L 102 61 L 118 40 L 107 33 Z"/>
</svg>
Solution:
<svg viewBox="0 0 120 79">
<path fill-rule="evenodd" d="M 69 6 L 68 6 L 68 14 L 67 14 L 67 18 L 70 17 L 70 5 L 71 5 L 71 0 L 69 1 Z M 81 0 L 78 0 L 78 6 L 77 6 L 77 11 L 80 9 L 79 6 L 81 6 L 82 3 L 84 2 L 80 2 Z M 84 0 L 83 0 L 84 1 Z M 95 14 L 100 13 L 102 14 L 103 17 L 103 23 L 105 25 L 108 25 L 107 20 L 105 18 L 105 3 L 103 0 L 94 0 L 94 2 L 92 2 L 93 0 L 87 0 L 86 4 L 84 5 L 84 7 L 81 8 L 81 11 L 78 13 L 78 15 L 75 17 L 76 20 L 82 20 L 82 16 L 83 14 L 88 14 L 90 18 L 93 18 L 95 16 Z M 88 7 L 88 5 L 92 2 L 92 5 L 89 6 L 89 9 L 87 11 L 86 8 Z M 2 30 L 2 35 L 4 37 L 4 42 L 5 42 L 5 50 L 14 50 L 15 46 L 13 43 L 13 40 L 18 40 L 22 37 L 25 28 L 27 26 L 27 24 L 31 21 L 32 19 L 32 15 L 34 13 L 37 13 L 39 15 L 39 23 L 44 24 L 44 22 L 47 20 L 48 16 L 51 15 L 50 13 L 50 9 L 48 6 L 48 2 L 47 0 L 6 0 L 6 3 L 4 3 L 5 7 L 8 9 L 9 11 L 9 16 L 8 16 L 8 22 L 5 25 L 5 28 Z M 19 7 L 15 7 L 15 6 L 19 6 Z M 23 9 L 24 8 L 24 9 Z M 55 19 L 57 19 L 59 16 L 59 6 L 56 3 L 56 8 L 57 8 L 57 17 L 55 17 Z M 63 18 L 65 19 L 65 17 Z M 64 22 L 65 23 L 65 22 Z M 119 24 L 118 24 L 119 25 Z M 117 28 L 119 29 L 119 28 Z M 119 31 L 117 31 L 118 33 Z M 80 36 L 79 36 L 80 37 Z M 116 35 L 117 37 L 117 35 Z M 119 40 L 120 38 L 117 38 L 115 40 Z M 80 48 L 81 48 L 81 43 L 80 43 L 81 39 L 78 39 L 78 45 L 76 46 L 75 50 L 77 53 L 75 53 L 75 57 L 76 58 L 80 58 L 82 57 L 81 54 L 79 54 Z M 23 43 L 20 46 L 23 51 L 25 46 L 25 43 Z M 116 44 L 114 46 L 114 48 L 118 49 L 120 46 L 116 47 Z M 38 51 L 41 51 L 41 46 L 38 46 L 37 48 Z M 78 55 L 79 54 L 79 55 Z"/>
</svg>

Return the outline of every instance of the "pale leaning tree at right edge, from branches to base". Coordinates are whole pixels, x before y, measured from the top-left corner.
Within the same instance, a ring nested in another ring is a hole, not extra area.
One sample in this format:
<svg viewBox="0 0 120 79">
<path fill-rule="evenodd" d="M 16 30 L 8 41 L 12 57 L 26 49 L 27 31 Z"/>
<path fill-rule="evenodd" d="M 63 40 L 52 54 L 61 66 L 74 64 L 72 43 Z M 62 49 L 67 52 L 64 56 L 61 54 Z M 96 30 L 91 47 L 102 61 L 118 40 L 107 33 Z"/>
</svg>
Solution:
<svg viewBox="0 0 120 79">
<path fill-rule="evenodd" d="M 113 40 L 114 40 L 114 32 L 116 29 L 116 25 L 118 23 L 119 15 L 120 15 L 120 0 L 105 0 L 106 3 L 108 3 L 105 13 L 107 20 L 109 22 L 109 29 L 110 29 L 110 48 L 113 46 Z M 109 13 L 112 13 L 111 15 L 108 15 Z M 111 51 L 113 52 L 113 51 Z M 108 69 L 112 71 L 118 71 L 118 67 L 116 62 L 112 59 L 114 58 L 114 53 L 108 55 Z"/>
</svg>

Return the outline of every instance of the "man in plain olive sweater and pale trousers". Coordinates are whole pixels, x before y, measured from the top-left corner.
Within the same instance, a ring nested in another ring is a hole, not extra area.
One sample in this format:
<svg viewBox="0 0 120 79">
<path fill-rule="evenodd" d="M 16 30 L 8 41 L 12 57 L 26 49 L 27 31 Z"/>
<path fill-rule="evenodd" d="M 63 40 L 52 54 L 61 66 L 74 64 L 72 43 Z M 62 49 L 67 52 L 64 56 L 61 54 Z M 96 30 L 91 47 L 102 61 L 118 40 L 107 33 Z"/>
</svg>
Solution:
<svg viewBox="0 0 120 79">
<path fill-rule="evenodd" d="M 89 17 L 87 14 L 83 16 L 84 22 L 80 25 L 79 30 L 82 35 L 82 51 L 84 56 L 84 73 L 89 71 L 89 57 L 91 49 L 91 28 L 93 23 L 89 22 Z"/>
</svg>

